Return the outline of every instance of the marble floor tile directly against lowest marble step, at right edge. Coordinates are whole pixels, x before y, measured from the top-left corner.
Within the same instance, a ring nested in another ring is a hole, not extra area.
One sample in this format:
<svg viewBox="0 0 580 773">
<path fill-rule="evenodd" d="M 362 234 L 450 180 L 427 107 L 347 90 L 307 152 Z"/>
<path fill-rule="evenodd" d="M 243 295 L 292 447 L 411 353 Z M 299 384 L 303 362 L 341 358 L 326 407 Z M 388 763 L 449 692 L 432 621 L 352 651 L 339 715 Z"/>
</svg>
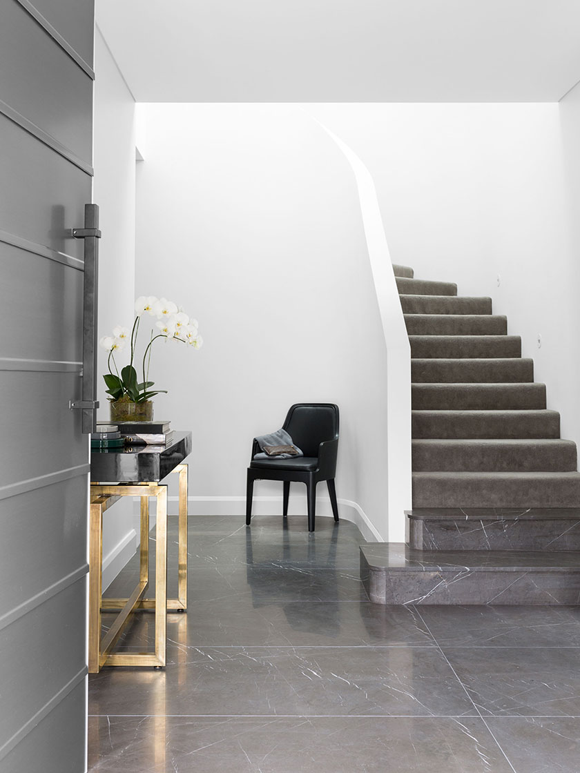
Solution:
<svg viewBox="0 0 580 773">
<path fill-rule="evenodd" d="M 439 645 L 580 647 L 580 607 L 421 606 Z"/>
</svg>

